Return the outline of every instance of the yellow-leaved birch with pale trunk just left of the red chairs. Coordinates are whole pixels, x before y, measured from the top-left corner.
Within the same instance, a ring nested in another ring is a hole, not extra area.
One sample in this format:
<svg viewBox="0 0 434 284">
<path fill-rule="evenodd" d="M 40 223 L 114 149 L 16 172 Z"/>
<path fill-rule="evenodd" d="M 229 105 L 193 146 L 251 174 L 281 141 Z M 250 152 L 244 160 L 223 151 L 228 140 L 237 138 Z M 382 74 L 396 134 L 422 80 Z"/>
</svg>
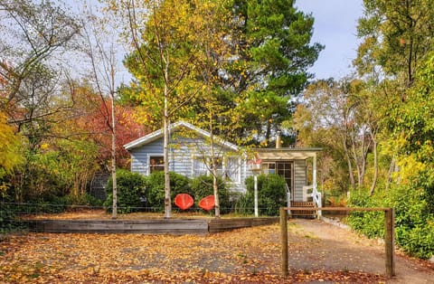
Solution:
<svg viewBox="0 0 434 284">
<path fill-rule="evenodd" d="M 109 2 L 109 8 L 127 19 L 125 34 L 132 50 L 126 65 L 135 76 L 132 95 L 141 105 L 143 122 L 164 131 L 165 218 L 170 218 L 170 122 L 188 112 L 188 103 L 199 90 L 194 78 L 198 48 L 194 3 L 128 0 Z"/>
</svg>

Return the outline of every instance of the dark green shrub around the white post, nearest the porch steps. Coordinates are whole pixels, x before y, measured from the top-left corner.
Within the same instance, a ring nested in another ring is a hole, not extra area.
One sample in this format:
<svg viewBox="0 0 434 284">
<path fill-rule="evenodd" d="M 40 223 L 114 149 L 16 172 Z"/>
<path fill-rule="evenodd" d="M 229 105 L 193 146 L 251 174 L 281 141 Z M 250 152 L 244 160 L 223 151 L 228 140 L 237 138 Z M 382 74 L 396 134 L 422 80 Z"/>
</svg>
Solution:
<svg viewBox="0 0 434 284">
<path fill-rule="evenodd" d="M 281 206 L 287 205 L 285 178 L 280 175 L 258 175 L 258 212 L 260 215 L 277 216 Z M 246 179 L 246 194 L 237 203 L 238 213 L 253 213 L 254 177 Z"/>
</svg>

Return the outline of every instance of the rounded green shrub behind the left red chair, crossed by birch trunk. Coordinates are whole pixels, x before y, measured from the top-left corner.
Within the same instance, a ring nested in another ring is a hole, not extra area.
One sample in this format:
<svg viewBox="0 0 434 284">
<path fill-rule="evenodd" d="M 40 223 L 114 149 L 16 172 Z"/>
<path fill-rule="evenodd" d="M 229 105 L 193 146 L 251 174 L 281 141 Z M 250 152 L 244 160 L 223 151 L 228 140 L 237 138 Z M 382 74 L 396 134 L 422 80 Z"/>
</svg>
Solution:
<svg viewBox="0 0 434 284">
<path fill-rule="evenodd" d="M 191 180 L 184 176 L 175 173 L 170 175 L 170 197 L 172 202 L 176 194 L 190 194 L 193 195 L 191 190 Z M 158 171 L 146 177 L 146 200 L 150 207 L 158 211 L 163 211 L 165 207 L 165 173 Z"/>
</svg>

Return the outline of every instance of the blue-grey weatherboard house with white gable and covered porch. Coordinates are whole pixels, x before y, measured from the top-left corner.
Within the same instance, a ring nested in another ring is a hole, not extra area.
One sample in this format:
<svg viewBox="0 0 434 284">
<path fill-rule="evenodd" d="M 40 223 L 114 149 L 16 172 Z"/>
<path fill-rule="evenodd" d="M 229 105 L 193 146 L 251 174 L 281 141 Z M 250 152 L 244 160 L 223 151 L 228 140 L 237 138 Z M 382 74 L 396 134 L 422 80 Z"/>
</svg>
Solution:
<svg viewBox="0 0 434 284">
<path fill-rule="evenodd" d="M 171 124 L 169 133 L 170 171 L 190 178 L 210 174 L 211 134 L 184 121 Z M 163 129 L 160 129 L 126 144 L 124 147 L 131 154 L 131 171 L 149 175 L 164 170 L 163 139 Z M 222 140 L 216 140 L 214 144 L 218 173 L 229 181 L 231 191 L 245 192 L 244 181 L 251 175 L 278 174 L 285 177 L 290 193 L 288 198 L 292 202 L 307 202 L 310 197 L 315 201 L 318 198 L 316 153 L 321 151 L 320 148 L 280 147 L 278 142 L 276 148 L 251 149 L 260 161 L 260 164 L 252 164 L 236 145 Z M 309 162 L 312 163 L 312 185 L 307 185 Z M 257 169 L 253 169 L 252 165 Z M 313 194 L 308 193 L 310 189 Z"/>
</svg>

